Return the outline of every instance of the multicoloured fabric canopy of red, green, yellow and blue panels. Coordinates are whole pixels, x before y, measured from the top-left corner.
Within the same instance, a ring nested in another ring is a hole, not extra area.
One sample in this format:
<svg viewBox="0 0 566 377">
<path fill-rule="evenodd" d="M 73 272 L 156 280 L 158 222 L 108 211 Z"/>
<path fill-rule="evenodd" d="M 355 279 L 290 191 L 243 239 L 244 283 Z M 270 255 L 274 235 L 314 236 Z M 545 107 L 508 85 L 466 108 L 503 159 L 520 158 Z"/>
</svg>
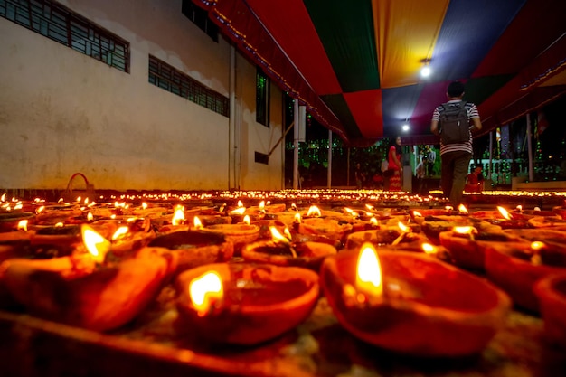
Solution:
<svg viewBox="0 0 566 377">
<path fill-rule="evenodd" d="M 351 146 L 430 136 L 466 82 L 484 132 L 566 93 L 564 0 L 193 0 Z M 429 78 L 420 69 L 429 65 Z"/>
</svg>

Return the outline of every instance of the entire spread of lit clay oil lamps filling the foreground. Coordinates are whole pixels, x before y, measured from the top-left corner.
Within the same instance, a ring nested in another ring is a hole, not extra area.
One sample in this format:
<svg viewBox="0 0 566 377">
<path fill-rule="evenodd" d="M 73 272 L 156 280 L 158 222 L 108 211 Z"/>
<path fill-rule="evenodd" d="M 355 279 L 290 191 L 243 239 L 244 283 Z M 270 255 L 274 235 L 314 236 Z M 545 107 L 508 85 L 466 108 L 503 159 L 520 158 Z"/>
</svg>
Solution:
<svg viewBox="0 0 566 377">
<path fill-rule="evenodd" d="M 348 332 L 398 353 L 478 353 L 512 305 L 566 346 L 561 208 L 2 204 L 6 310 L 107 331 L 173 283 L 179 331 L 212 343 L 274 339 L 322 295 Z"/>
</svg>

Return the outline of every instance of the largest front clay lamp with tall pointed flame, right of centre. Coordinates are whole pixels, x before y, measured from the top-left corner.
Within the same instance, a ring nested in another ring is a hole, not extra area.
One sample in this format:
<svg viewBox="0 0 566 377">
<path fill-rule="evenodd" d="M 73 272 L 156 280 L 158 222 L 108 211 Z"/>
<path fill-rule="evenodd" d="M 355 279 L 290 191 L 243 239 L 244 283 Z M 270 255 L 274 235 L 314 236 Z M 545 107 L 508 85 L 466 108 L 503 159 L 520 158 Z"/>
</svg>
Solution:
<svg viewBox="0 0 566 377">
<path fill-rule="evenodd" d="M 325 259 L 321 286 L 355 337 L 418 357 L 480 353 L 504 325 L 509 298 L 475 275 L 423 253 L 371 244 Z"/>
</svg>

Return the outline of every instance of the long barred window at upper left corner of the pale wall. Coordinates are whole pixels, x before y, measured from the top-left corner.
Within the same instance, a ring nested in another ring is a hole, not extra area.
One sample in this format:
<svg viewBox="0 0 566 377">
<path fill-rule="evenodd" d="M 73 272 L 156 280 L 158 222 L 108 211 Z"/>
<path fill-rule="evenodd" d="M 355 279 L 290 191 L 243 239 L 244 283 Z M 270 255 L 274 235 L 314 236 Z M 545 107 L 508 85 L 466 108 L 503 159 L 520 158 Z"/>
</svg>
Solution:
<svg viewBox="0 0 566 377">
<path fill-rule="evenodd" d="M 0 16 L 129 72 L 129 43 L 50 0 L 0 0 Z"/>
</svg>

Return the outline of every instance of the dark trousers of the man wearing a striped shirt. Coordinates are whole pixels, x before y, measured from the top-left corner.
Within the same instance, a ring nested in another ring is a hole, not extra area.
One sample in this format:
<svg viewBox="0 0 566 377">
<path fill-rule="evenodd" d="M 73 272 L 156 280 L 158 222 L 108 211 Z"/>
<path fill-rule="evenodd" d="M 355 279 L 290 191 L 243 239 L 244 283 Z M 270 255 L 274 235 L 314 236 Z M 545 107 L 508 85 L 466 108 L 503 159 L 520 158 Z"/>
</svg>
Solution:
<svg viewBox="0 0 566 377">
<path fill-rule="evenodd" d="M 440 177 L 442 191 L 444 196 L 448 196 L 450 205 L 458 209 L 458 205 L 462 203 L 467 170 L 472 155 L 458 151 L 448 152 L 440 157 L 442 158 L 442 176 Z"/>
</svg>

